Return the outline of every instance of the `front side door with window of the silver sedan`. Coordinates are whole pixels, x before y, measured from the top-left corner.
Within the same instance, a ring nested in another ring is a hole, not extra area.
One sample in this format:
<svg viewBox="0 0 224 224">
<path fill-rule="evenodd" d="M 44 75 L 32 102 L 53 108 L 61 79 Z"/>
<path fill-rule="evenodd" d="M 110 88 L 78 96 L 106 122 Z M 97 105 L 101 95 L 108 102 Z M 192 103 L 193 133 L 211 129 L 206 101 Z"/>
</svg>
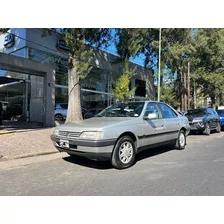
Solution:
<svg viewBox="0 0 224 224">
<path fill-rule="evenodd" d="M 150 113 L 156 113 L 156 119 L 148 119 L 143 121 L 143 146 L 158 144 L 165 142 L 165 121 L 161 111 L 155 102 L 149 102 L 145 110 L 145 116 Z"/>
</svg>

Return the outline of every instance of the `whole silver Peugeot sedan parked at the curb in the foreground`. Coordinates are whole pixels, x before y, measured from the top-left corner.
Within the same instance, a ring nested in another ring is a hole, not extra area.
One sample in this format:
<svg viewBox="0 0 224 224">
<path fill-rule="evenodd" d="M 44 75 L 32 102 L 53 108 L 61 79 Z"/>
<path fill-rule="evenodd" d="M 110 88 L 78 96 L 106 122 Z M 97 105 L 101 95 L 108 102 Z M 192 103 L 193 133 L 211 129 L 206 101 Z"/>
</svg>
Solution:
<svg viewBox="0 0 224 224">
<path fill-rule="evenodd" d="M 67 123 L 51 135 L 55 147 L 69 155 L 109 160 L 127 168 L 143 149 L 172 144 L 184 149 L 188 119 L 169 105 L 155 101 L 118 103 L 93 118 Z"/>
</svg>

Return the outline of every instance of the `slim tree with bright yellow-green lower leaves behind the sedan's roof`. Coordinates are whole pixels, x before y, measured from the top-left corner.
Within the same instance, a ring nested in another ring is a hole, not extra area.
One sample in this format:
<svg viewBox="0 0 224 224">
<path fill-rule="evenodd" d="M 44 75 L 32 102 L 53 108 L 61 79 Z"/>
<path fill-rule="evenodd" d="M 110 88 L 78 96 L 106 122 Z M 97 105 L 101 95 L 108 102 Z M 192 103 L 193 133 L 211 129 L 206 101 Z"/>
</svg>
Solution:
<svg viewBox="0 0 224 224">
<path fill-rule="evenodd" d="M 138 55 L 141 43 L 140 29 L 116 29 L 115 44 L 120 56 L 116 63 L 123 63 L 123 74 L 114 82 L 113 95 L 121 101 L 127 101 L 135 93 L 135 88 L 129 90 L 130 80 L 135 76 L 135 68 L 130 66 L 129 59 Z"/>
</svg>

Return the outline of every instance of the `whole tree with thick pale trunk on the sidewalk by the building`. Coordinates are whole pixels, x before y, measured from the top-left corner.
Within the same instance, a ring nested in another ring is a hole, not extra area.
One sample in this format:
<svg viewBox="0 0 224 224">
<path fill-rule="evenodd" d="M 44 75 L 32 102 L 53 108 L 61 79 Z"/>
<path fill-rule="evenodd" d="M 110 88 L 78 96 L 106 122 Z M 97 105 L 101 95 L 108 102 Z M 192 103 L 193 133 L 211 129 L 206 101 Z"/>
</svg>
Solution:
<svg viewBox="0 0 224 224">
<path fill-rule="evenodd" d="M 68 113 L 66 123 L 82 120 L 80 80 L 90 73 L 93 47 L 107 45 L 111 38 L 109 28 L 45 29 L 44 35 L 57 32 L 69 49 L 68 57 Z"/>
</svg>

